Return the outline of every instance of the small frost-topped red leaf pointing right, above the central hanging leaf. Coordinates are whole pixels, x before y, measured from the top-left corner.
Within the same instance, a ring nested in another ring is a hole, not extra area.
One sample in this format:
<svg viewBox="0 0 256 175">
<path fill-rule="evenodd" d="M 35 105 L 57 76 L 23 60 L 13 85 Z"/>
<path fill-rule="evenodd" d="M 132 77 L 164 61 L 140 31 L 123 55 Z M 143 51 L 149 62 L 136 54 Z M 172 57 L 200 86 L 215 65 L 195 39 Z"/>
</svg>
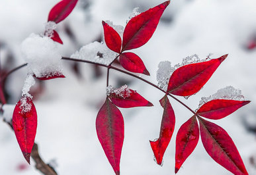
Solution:
<svg viewBox="0 0 256 175">
<path fill-rule="evenodd" d="M 153 106 L 152 103 L 144 99 L 138 92 L 128 88 L 127 85 L 117 89 L 108 86 L 107 96 L 114 105 L 122 108 Z"/>
</svg>

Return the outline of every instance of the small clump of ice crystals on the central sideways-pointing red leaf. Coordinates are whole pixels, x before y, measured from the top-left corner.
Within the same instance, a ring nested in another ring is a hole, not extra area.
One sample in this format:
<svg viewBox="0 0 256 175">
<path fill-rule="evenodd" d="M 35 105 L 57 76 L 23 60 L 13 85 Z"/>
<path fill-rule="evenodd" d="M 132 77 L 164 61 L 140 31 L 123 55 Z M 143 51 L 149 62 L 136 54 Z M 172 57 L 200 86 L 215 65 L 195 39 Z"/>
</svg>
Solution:
<svg viewBox="0 0 256 175">
<path fill-rule="evenodd" d="M 114 95 L 126 99 L 128 97 L 130 97 L 132 91 L 130 91 L 130 88 L 128 88 L 127 85 L 122 86 L 121 88 L 116 88 L 114 89 L 112 86 L 108 86 L 106 88 L 107 91 L 107 95 L 109 96 L 110 94 L 114 93 Z"/>
</svg>

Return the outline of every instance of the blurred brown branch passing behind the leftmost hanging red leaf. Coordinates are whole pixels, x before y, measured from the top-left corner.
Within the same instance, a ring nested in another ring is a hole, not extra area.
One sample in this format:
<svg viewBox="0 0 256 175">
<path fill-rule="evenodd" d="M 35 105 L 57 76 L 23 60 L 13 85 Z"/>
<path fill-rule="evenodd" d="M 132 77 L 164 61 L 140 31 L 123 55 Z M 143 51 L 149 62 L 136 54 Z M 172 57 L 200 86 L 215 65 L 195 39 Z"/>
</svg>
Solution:
<svg viewBox="0 0 256 175">
<path fill-rule="evenodd" d="M 13 130 L 13 124 L 7 120 L 3 120 L 6 124 L 8 124 L 11 129 Z M 45 175 L 57 175 L 57 172 L 54 170 L 54 168 L 52 168 L 52 166 L 50 166 L 50 164 L 46 164 L 42 158 L 40 157 L 39 153 L 38 153 L 38 145 L 37 143 L 34 143 L 32 151 L 31 151 L 31 157 L 34 160 L 34 162 L 36 163 L 35 167 L 36 169 L 38 169 L 40 172 L 42 172 L 42 174 Z"/>
</svg>

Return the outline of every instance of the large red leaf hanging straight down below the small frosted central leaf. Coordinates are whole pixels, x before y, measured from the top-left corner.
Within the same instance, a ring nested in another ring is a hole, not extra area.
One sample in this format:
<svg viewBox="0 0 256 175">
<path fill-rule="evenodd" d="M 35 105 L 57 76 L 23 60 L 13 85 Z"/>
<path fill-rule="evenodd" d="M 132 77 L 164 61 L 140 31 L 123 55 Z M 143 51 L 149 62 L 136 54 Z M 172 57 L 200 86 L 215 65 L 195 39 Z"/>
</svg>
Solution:
<svg viewBox="0 0 256 175">
<path fill-rule="evenodd" d="M 114 172 L 120 174 L 120 157 L 124 141 L 124 119 L 118 108 L 107 98 L 96 118 L 96 130 L 101 146 Z"/>
</svg>

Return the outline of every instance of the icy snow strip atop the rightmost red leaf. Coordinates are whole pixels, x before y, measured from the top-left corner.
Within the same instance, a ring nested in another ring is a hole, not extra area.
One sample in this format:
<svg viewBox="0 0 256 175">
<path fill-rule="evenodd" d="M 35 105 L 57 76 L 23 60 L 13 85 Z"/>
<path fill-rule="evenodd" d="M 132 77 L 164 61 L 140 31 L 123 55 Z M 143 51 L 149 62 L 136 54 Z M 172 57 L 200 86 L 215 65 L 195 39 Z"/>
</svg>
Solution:
<svg viewBox="0 0 256 175">
<path fill-rule="evenodd" d="M 219 89 L 213 95 L 209 97 L 202 97 L 199 102 L 198 109 L 207 103 L 208 101 L 212 101 L 214 99 L 230 99 L 230 100 L 237 100 L 237 101 L 244 101 L 245 97 L 241 94 L 240 89 L 235 89 L 233 86 L 227 86 L 226 88 Z"/>
</svg>

